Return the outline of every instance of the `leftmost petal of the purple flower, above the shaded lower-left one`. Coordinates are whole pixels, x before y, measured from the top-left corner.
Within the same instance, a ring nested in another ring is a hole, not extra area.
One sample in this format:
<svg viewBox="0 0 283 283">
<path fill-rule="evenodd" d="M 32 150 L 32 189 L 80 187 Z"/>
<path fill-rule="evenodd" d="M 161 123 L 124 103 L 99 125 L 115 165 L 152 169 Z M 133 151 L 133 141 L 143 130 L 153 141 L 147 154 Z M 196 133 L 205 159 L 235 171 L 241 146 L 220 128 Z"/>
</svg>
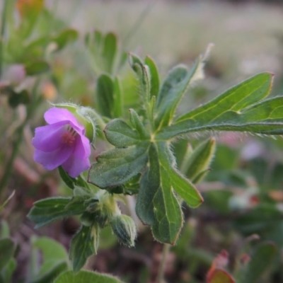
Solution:
<svg viewBox="0 0 283 283">
<path fill-rule="evenodd" d="M 62 121 L 52 125 L 37 127 L 32 141 L 35 149 L 45 152 L 59 149 L 62 146 L 62 134 L 67 132 L 65 126 L 67 123 L 67 121 Z"/>
</svg>

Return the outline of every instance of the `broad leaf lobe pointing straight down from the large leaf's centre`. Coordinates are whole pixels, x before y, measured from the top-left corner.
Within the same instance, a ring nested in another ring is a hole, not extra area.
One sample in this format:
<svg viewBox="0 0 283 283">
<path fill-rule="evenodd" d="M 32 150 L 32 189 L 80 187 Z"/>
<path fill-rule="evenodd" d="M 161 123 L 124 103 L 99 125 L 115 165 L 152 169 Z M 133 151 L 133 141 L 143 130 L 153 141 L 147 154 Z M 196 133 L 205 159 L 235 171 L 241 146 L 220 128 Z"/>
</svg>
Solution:
<svg viewBox="0 0 283 283">
<path fill-rule="evenodd" d="M 158 162 L 155 144 L 149 149 L 149 168 L 141 178 L 136 212 L 144 224 L 152 226 L 157 241 L 175 243 L 183 225 L 183 215 L 171 179 Z"/>
</svg>

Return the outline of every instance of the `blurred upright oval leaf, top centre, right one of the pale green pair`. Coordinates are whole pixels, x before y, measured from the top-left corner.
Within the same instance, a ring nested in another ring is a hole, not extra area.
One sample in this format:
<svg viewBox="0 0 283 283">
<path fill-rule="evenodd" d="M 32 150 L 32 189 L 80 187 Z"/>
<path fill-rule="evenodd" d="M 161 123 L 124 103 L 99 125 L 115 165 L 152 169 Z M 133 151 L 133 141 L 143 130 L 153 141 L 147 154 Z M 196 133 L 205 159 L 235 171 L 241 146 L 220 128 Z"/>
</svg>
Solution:
<svg viewBox="0 0 283 283">
<path fill-rule="evenodd" d="M 112 69 L 117 53 L 117 37 L 114 33 L 108 33 L 104 38 L 103 57 L 104 69 L 109 74 L 112 74 Z"/>
</svg>

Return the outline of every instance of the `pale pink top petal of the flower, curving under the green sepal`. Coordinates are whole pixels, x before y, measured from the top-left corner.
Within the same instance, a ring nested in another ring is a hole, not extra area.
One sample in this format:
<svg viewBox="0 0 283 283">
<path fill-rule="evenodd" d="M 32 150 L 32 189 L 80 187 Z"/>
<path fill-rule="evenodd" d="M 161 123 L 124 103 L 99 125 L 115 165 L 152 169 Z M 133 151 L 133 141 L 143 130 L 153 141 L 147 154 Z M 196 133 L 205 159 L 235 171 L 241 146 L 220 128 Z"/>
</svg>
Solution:
<svg viewBox="0 0 283 283">
<path fill-rule="evenodd" d="M 76 129 L 79 133 L 84 133 L 83 125 L 79 124 L 76 117 L 67 109 L 64 108 L 50 108 L 45 112 L 45 121 L 52 125 L 61 121 L 69 121 L 72 128 Z"/>
</svg>

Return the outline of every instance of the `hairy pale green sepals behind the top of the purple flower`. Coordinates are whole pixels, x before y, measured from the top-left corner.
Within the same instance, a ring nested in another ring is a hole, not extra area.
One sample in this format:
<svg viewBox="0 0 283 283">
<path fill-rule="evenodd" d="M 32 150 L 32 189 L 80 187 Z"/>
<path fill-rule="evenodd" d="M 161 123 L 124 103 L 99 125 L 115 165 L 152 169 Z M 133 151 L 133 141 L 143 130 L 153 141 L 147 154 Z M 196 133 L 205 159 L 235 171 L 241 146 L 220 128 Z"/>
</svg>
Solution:
<svg viewBox="0 0 283 283">
<path fill-rule="evenodd" d="M 65 108 L 69 110 L 81 123 L 81 125 L 85 127 L 86 137 L 89 139 L 89 141 L 91 141 L 91 144 L 93 144 L 96 137 L 96 115 L 94 110 L 88 107 L 76 105 L 74 103 L 58 103 L 52 105 L 57 108 Z"/>
</svg>

